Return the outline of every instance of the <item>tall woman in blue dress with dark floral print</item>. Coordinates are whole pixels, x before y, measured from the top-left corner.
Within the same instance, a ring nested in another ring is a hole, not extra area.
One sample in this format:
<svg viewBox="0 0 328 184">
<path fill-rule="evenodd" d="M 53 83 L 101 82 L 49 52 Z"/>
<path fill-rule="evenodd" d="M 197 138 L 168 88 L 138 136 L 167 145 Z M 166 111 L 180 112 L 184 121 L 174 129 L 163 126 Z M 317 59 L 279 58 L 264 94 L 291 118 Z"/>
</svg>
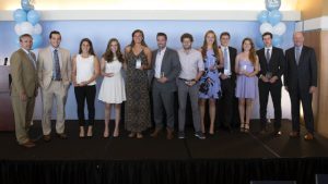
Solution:
<svg viewBox="0 0 328 184">
<path fill-rule="evenodd" d="M 208 30 L 204 35 L 203 45 L 200 48 L 204 62 L 204 73 L 199 82 L 199 109 L 201 118 L 201 130 L 204 131 L 206 102 L 209 100 L 210 127 L 209 134 L 214 134 L 215 103 L 221 96 L 221 84 L 219 69 L 223 68 L 223 54 L 218 47 L 216 35 Z"/>
</svg>

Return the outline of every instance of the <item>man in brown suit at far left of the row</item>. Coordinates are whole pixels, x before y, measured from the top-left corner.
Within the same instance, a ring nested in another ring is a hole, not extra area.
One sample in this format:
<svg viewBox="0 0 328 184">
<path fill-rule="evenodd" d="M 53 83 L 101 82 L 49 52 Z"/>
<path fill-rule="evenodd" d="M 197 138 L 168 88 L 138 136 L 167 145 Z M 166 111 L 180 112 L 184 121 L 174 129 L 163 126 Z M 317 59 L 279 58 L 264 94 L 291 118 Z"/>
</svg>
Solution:
<svg viewBox="0 0 328 184">
<path fill-rule="evenodd" d="M 30 138 L 28 130 L 33 118 L 35 97 L 37 96 L 36 58 L 31 51 L 33 38 L 28 34 L 20 36 L 21 48 L 10 58 L 12 76 L 11 101 L 15 120 L 16 139 L 21 146 L 32 148 L 35 143 Z"/>
</svg>

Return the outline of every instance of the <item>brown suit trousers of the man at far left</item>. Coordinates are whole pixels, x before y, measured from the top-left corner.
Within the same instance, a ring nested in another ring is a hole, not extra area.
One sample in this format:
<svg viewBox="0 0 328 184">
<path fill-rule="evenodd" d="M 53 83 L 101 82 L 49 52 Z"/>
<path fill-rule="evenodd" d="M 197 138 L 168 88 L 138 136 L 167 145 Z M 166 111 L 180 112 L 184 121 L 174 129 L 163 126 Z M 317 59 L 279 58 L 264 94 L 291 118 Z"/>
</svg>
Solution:
<svg viewBox="0 0 328 184">
<path fill-rule="evenodd" d="M 20 96 L 11 96 L 12 108 L 15 119 L 15 133 L 19 144 L 30 140 L 28 131 L 33 118 L 35 97 L 22 101 Z"/>
</svg>

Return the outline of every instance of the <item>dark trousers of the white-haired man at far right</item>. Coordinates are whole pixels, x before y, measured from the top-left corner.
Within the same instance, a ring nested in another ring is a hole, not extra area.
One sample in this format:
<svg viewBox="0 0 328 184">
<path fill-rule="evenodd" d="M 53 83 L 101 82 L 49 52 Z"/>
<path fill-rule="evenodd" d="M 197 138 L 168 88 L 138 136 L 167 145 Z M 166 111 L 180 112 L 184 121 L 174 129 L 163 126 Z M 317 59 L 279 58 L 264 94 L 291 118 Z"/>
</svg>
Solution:
<svg viewBox="0 0 328 184">
<path fill-rule="evenodd" d="M 307 90 L 290 90 L 292 103 L 293 131 L 300 132 L 300 100 L 302 101 L 305 127 L 307 132 L 314 133 L 314 116 L 312 111 L 312 94 Z"/>
</svg>

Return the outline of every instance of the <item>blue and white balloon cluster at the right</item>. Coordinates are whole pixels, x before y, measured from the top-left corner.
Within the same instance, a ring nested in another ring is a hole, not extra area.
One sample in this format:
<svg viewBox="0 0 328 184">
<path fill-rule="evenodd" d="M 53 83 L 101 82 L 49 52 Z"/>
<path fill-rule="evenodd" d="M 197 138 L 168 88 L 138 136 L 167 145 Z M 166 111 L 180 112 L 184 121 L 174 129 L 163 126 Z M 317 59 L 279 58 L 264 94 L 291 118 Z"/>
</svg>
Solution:
<svg viewBox="0 0 328 184">
<path fill-rule="evenodd" d="M 282 35 L 285 33 L 285 24 L 281 22 L 282 14 L 279 11 L 281 5 L 281 0 L 266 0 L 266 9 L 261 11 L 257 20 L 260 25 L 260 33 L 263 34 L 269 32 L 273 35 L 272 45 L 281 46 L 282 44 Z M 261 36 L 256 41 L 258 47 L 263 47 L 263 42 Z"/>
</svg>

